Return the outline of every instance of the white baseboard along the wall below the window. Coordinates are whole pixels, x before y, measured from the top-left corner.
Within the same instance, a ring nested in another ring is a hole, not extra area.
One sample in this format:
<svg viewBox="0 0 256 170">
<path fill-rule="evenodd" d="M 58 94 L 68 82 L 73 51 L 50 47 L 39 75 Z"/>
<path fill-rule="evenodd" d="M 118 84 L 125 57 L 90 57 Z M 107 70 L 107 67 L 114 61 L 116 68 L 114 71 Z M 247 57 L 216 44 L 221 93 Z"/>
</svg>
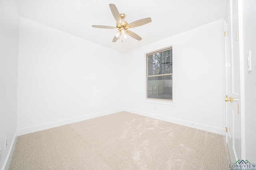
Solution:
<svg viewBox="0 0 256 170">
<path fill-rule="evenodd" d="M 159 120 L 162 120 L 162 121 L 168 121 L 170 123 L 175 123 L 175 124 L 178 124 L 178 125 L 184 125 L 184 126 L 187 126 L 187 127 L 200 129 L 200 130 L 203 130 L 203 131 L 216 133 L 216 134 L 219 134 L 219 135 L 225 135 L 225 129 L 221 129 L 221 128 L 218 128 L 218 127 L 212 127 L 212 126 L 203 125 L 203 124 L 200 124 L 200 123 L 194 123 L 194 122 L 190 122 L 190 121 L 174 119 L 174 118 L 171 118 L 171 117 L 156 115 L 156 114 L 153 114 L 153 113 L 147 113 L 147 112 L 133 110 L 133 109 L 124 109 L 124 111 L 130 112 L 130 113 L 135 113 L 135 114 L 142 115 L 142 116 L 151 117 L 151 118 L 154 118 L 154 119 L 159 119 Z"/>
</svg>

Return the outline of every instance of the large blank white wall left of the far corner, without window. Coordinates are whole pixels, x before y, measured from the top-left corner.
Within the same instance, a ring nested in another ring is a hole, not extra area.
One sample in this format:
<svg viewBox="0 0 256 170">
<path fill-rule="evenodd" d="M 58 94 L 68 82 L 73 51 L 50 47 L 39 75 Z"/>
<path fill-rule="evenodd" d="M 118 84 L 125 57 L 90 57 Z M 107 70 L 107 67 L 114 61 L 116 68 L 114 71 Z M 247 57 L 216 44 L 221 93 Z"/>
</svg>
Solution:
<svg viewBox="0 0 256 170">
<path fill-rule="evenodd" d="M 22 17 L 19 45 L 18 135 L 122 108 L 122 53 Z"/>
</svg>

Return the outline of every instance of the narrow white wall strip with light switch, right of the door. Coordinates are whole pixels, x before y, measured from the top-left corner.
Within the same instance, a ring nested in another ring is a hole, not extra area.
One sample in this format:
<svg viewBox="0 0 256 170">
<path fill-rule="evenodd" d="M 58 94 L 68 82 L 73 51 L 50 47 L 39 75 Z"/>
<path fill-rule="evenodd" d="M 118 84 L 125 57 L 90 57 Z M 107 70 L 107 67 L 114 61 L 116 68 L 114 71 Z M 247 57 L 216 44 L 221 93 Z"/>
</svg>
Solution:
<svg viewBox="0 0 256 170">
<path fill-rule="evenodd" d="M 244 133 L 245 157 L 256 163 L 256 1 L 242 0 L 244 56 Z M 247 72 L 247 53 L 251 51 L 252 71 Z"/>
</svg>

